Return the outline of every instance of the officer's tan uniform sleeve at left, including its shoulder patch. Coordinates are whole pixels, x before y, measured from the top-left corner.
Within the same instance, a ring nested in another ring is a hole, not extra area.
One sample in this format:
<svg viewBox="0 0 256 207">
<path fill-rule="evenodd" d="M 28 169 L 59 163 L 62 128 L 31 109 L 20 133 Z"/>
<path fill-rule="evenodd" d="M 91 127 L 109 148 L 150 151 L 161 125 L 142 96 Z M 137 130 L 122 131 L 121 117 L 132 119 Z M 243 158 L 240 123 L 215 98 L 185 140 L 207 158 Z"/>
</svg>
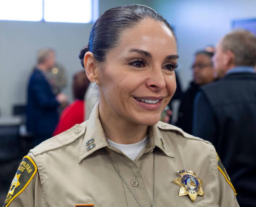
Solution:
<svg viewBox="0 0 256 207">
<path fill-rule="evenodd" d="M 37 168 L 33 168 L 29 158 L 33 161 L 31 156 L 25 156 L 19 165 L 3 207 L 41 207 L 42 185 Z"/>
</svg>

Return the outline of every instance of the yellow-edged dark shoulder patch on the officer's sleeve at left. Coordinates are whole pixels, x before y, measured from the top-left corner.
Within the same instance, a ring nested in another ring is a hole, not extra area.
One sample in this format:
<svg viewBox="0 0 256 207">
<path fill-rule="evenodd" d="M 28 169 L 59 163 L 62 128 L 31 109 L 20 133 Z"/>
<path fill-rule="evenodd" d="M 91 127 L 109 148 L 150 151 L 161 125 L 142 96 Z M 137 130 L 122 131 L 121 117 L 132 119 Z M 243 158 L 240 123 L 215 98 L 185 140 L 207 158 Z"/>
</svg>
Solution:
<svg viewBox="0 0 256 207">
<path fill-rule="evenodd" d="M 23 157 L 11 182 L 11 186 L 4 201 L 3 207 L 7 207 L 15 197 L 24 191 L 36 174 L 36 171 L 37 167 L 34 161 L 29 156 Z"/>
</svg>

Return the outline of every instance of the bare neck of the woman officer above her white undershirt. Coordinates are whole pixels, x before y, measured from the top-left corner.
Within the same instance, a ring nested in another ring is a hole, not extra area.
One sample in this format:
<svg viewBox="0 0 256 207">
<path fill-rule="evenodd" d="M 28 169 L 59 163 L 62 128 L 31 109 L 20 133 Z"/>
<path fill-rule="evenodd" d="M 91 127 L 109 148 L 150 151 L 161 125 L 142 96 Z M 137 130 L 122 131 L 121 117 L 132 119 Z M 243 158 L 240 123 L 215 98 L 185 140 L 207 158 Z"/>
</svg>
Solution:
<svg viewBox="0 0 256 207">
<path fill-rule="evenodd" d="M 113 116 L 113 113 L 106 113 L 101 104 L 99 113 L 106 138 L 115 143 L 134 144 L 147 136 L 148 126 L 124 120 L 123 117 L 116 118 Z"/>
</svg>

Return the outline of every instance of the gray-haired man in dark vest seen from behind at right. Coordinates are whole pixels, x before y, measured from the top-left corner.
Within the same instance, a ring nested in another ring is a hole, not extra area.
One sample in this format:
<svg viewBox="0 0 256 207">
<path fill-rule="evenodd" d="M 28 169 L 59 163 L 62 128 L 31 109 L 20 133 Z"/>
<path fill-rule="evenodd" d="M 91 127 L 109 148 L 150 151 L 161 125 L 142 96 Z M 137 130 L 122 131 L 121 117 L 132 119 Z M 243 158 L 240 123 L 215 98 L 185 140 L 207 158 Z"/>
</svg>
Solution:
<svg viewBox="0 0 256 207">
<path fill-rule="evenodd" d="M 256 206 L 255 65 L 256 37 L 242 29 L 227 34 L 213 56 L 221 79 L 201 87 L 194 107 L 193 134 L 215 146 L 241 207 Z"/>
</svg>

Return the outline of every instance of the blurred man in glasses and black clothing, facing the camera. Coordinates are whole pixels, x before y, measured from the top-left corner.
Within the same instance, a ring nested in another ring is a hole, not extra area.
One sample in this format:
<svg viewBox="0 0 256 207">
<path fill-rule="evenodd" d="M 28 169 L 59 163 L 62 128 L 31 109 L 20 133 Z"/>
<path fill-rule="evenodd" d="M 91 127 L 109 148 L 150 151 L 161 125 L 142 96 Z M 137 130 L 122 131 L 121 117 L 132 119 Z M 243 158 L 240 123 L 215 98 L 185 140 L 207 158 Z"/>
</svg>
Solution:
<svg viewBox="0 0 256 207">
<path fill-rule="evenodd" d="M 192 133 L 195 95 L 200 86 L 214 81 L 212 57 L 213 53 L 204 50 L 195 53 L 194 63 L 191 67 L 193 81 L 181 99 L 176 126 L 189 134 Z"/>
</svg>

